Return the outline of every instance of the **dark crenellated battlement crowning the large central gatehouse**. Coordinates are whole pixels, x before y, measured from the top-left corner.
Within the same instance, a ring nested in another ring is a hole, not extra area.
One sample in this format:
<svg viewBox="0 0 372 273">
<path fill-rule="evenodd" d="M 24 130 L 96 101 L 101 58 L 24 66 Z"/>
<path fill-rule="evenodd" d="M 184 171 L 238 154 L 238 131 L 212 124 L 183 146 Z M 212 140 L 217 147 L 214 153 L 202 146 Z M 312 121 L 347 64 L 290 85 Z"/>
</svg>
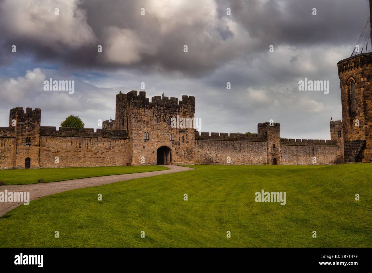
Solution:
<svg viewBox="0 0 372 273">
<path fill-rule="evenodd" d="M 182 95 L 182 101 L 178 101 L 178 98 L 155 96 L 146 98 L 146 92 L 140 91 L 137 95 L 136 90 L 132 90 L 127 94 L 123 94 L 121 91 L 116 95 L 116 101 L 122 101 L 124 104 L 131 105 L 132 108 L 145 108 L 145 107 L 164 107 L 164 108 L 180 108 L 187 107 L 195 111 L 195 97 Z"/>
</svg>

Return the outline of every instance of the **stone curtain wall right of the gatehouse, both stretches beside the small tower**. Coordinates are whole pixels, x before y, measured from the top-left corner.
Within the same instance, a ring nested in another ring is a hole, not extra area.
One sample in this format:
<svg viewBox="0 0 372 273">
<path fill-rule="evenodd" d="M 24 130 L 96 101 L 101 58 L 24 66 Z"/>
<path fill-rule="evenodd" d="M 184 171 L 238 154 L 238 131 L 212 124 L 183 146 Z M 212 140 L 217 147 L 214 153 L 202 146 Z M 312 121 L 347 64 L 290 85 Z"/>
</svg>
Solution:
<svg viewBox="0 0 372 273">
<path fill-rule="evenodd" d="M 268 161 L 273 155 L 267 150 L 269 146 L 264 133 L 238 136 L 208 132 L 199 135 L 196 132 L 195 163 L 227 165 L 227 157 L 230 156 L 232 165 L 272 165 Z M 329 165 L 341 163 L 343 158 L 337 140 L 282 139 L 276 147 L 280 149 L 282 165 Z M 315 164 L 312 163 L 313 156 L 317 157 Z"/>
</svg>

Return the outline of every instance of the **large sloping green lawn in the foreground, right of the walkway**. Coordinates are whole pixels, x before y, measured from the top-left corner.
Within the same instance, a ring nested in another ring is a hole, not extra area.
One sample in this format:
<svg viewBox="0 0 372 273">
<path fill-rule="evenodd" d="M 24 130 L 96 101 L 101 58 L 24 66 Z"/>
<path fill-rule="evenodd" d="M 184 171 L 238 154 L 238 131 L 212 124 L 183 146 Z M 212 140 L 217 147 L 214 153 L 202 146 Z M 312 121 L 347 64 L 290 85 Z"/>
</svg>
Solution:
<svg viewBox="0 0 372 273">
<path fill-rule="evenodd" d="M 193 167 L 31 201 L 0 219 L 0 246 L 372 246 L 372 164 Z M 286 205 L 255 202 L 262 189 Z"/>
</svg>

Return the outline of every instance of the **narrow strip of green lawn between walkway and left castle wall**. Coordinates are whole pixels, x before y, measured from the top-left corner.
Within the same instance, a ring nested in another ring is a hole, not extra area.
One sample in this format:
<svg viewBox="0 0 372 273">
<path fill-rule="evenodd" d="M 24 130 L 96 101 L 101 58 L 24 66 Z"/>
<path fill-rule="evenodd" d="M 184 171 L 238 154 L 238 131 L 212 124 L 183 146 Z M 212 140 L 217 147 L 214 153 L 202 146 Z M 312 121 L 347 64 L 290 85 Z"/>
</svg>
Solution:
<svg viewBox="0 0 372 273">
<path fill-rule="evenodd" d="M 168 168 L 165 168 L 163 166 L 119 166 L 0 170 L 0 181 L 4 181 L 5 185 L 34 184 L 38 183 L 38 179 L 44 179 L 45 183 L 95 176 L 153 172 L 155 170 L 167 169 Z"/>
</svg>

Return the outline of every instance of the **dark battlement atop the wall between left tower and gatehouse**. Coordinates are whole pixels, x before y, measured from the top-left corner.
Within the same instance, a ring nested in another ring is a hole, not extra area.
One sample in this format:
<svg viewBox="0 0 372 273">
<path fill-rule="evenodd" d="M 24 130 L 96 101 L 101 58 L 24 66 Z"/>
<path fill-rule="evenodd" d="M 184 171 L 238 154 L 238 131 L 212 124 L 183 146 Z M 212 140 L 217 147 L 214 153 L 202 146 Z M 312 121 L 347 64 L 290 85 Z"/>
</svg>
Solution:
<svg viewBox="0 0 372 273">
<path fill-rule="evenodd" d="M 112 137 L 127 139 L 128 131 L 97 129 L 97 132 L 94 133 L 93 128 L 59 127 L 59 130 L 56 130 L 56 127 L 54 126 L 40 126 L 40 135 L 63 137 Z"/>
</svg>

